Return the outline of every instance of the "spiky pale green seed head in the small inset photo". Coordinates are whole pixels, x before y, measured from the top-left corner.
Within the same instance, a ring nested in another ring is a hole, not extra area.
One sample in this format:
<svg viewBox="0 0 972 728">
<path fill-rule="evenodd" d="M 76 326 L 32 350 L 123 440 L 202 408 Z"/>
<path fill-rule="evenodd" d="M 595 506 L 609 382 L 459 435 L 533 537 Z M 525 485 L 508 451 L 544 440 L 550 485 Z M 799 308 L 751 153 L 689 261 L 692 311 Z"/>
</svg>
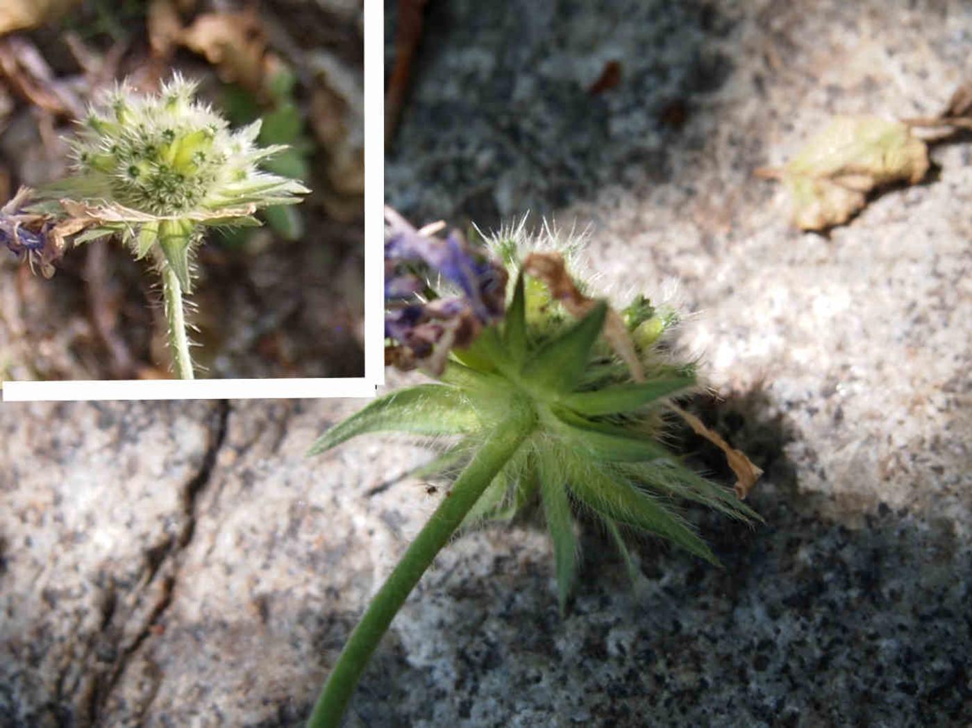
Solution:
<svg viewBox="0 0 972 728">
<path fill-rule="evenodd" d="M 157 244 L 187 289 L 190 247 L 204 226 L 253 225 L 258 208 L 307 191 L 260 171 L 261 159 L 283 149 L 256 145 L 260 121 L 232 130 L 194 94 L 178 75 L 156 94 L 124 84 L 105 93 L 71 141 L 74 174 L 40 191 L 61 213 L 93 221 L 85 239 L 119 232 L 139 258 Z"/>
</svg>

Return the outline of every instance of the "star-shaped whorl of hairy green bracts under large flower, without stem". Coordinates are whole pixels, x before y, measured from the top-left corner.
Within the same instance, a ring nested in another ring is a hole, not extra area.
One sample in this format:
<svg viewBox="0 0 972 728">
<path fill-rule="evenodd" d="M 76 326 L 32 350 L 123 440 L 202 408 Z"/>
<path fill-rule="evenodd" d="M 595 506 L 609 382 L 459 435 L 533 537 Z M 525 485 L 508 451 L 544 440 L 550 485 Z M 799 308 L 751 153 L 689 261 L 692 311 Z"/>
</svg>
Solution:
<svg viewBox="0 0 972 728">
<path fill-rule="evenodd" d="M 465 520 L 508 518 L 538 492 L 553 539 L 562 609 L 576 573 L 578 510 L 602 519 L 612 534 L 619 535 L 619 527 L 647 532 L 715 563 L 710 548 L 677 514 L 677 499 L 736 518 L 757 516 L 731 490 L 686 468 L 661 442 L 662 405 L 693 390 L 695 379 L 685 373 L 690 367 L 651 362 L 645 347 L 641 353 L 652 376 L 632 382 L 618 373 L 623 367 L 601 336 L 606 303 L 573 324 L 557 325 L 551 336 L 552 320 L 540 313 L 542 307 L 530 313 L 530 283 L 519 276 L 503 323 L 485 329 L 469 349 L 455 350 L 440 383 L 375 400 L 322 436 L 312 452 L 370 432 L 457 435 L 456 444 L 420 468 L 423 476 L 453 473 L 509 412 L 526 408 L 529 434 Z M 637 328 L 654 315 L 643 305 L 641 311 L 629 325 Z"/>
</svg>

